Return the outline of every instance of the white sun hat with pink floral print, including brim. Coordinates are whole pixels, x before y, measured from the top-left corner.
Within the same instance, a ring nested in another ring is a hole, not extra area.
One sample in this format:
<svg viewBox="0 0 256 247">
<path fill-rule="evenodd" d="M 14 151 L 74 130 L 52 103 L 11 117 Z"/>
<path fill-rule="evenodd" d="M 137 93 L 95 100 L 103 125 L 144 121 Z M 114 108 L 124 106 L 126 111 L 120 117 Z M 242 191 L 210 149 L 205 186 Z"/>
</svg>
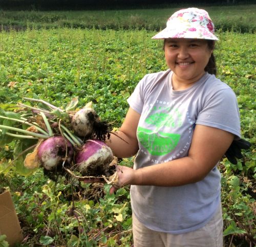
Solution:
<svg viewBox="0 0 256 247">
<path fill-rule="evenodd" d="M 166 28 L 153 39 L 195 38 L 218 40 L 209 14 L 198 8 L 181 9 L 169 17 Z"/>
</svg>

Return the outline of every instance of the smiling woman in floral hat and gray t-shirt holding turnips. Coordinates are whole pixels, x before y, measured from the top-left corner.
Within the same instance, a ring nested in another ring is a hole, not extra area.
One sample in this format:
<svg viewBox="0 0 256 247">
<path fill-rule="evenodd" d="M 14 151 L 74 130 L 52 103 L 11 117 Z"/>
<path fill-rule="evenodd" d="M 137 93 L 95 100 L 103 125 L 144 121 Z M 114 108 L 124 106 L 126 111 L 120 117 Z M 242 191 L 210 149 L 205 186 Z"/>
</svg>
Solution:
<svg viewBox="0 0 256 247">
<path fill-rule="evenodd" d="M 240 118 L 214 75 L 214 24 L 205 10 L 182 9 L 153 38 L 164 40 L 169 69 L 138 83 L 121 139 L 107 142 L 117 157 L 137 154 L 133 169 L 118 166 L 111 193 L 131 185 L 135 247 L 222 246 L 217 165 L 240 137 Z"/>
</svg>

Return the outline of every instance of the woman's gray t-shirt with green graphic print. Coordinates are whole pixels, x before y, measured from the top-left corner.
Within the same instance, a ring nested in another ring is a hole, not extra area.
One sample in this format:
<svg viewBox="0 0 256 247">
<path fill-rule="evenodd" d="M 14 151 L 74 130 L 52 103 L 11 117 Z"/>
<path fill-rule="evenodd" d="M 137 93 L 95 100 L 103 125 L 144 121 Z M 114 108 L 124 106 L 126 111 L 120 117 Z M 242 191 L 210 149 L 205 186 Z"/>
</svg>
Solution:
<svg viewBox="0 0 256 247">
<path fill-rule="evenodd" d="M 134 169 L 187 156 L 196 124 L 240 137 L 236 95 L 214 75 L 174 91 L 170 70 L 148 74 L 127 100 L 141 117 L 139 151 Z M 217 166 L 200 182 L 177 187 L 131 186 L 135 216 L 155 231 L 181 234 L 203 227 L 220 204 L 221 174 Z"/>
</svg>

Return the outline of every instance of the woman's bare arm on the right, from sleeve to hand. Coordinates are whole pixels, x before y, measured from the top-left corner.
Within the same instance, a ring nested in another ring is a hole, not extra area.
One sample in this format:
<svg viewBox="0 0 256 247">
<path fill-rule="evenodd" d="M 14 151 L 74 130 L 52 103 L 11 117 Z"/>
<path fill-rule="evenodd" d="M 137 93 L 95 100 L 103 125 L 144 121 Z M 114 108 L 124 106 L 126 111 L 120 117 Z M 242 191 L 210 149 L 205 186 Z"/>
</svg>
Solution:
<svg viewBox="0 0 256 247">
<path fill-rule="evenodd" d="M 181 186 L 203 179 L 222 158 L 234 136 L 227 131 L 196 125 L 188 156 L 138 170 L 119 166 L 119 186 Z"/>
</svg>

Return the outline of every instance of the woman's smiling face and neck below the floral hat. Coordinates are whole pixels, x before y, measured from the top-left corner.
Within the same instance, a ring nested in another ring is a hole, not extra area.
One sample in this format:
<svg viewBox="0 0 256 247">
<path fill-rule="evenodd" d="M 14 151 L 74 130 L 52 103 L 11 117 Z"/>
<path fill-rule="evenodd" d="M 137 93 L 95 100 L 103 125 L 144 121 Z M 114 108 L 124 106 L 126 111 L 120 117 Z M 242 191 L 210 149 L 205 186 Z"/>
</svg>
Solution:
<svg viewBox="0 0 256 247">
<path fill-rule="evenodd" d="M 164 53 L 174 72 L 174 89 L 185 89 L 204 75 L 212 50 L 204 39 L 169 38 L 165 40 Z"/>
</svg>

